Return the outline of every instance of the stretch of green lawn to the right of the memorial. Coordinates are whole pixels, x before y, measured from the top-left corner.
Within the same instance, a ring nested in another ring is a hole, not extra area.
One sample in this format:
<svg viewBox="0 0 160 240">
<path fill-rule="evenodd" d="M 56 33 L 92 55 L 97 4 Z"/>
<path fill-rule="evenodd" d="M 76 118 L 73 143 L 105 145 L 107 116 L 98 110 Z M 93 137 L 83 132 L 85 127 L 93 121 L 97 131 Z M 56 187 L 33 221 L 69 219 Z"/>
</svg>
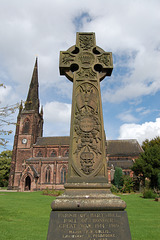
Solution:
<svg viewBox="0 0 160 240">
<path fill-rule="evenodd" d="M 159 240 L 160 202 L 143 199 L 139 194 L 120 197 L 127 203 L 132 240 Z"/>
</svg>

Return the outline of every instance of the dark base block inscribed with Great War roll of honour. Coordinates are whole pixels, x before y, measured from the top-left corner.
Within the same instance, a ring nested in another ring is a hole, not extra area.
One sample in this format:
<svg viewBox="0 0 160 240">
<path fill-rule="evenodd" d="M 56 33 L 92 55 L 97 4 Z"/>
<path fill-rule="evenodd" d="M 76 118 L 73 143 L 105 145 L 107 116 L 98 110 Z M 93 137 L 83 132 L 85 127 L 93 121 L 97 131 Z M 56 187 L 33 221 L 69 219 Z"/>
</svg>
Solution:
<svg viewBox="0 0 160 240">
<path fill-rule="evenodd" d="M 47 240 L 131 240 L 125 211 L 52 211 Z"/>
</svg>

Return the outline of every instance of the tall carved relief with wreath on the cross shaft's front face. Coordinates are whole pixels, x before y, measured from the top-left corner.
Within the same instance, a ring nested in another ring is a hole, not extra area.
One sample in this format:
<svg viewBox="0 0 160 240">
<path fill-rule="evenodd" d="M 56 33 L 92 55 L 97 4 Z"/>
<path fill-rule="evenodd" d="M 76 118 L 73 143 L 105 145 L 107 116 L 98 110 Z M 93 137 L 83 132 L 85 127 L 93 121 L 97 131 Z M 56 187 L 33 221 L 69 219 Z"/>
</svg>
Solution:
<svg viewBox="0 0 160 240">
<path fill-rule="evenodd" d="M 84 83 L 76 93 L 74 139 L 77 148 L 74 154 L 77 161 L 80 159 L 82 172 L 89 175 L 95 170 L 95 159 L 101 155 L 98 92 L 94 85 Z"/>
</svg>

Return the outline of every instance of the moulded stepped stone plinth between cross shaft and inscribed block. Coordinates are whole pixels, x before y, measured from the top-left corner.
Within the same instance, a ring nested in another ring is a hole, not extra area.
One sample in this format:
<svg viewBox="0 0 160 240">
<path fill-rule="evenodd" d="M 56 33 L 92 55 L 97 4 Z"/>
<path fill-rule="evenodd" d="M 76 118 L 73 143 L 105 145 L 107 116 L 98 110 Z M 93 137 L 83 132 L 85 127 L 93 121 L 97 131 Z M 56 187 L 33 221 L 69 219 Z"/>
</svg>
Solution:
<svg viewBox="0 0 160 240">
<path fill-rule="evenodd" d="M 126 203 L 110 191 L 110 184 L 66 184 L 65 193 L 52 202 L 52 210 L 123 211 Z"/>
</svg>

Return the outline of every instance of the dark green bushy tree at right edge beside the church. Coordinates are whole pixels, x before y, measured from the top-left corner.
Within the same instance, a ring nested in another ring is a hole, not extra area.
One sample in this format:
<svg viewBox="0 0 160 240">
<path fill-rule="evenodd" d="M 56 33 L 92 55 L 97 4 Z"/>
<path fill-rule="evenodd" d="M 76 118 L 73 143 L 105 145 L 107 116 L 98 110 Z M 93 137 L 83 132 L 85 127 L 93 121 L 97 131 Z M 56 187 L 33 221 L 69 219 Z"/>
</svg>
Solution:
<svg viewBox="0 0 160 240">
<path fill-rule="evenodd" d="M 135 160 L 132 170 L 140 180 L 150 180 L 152 188 L 158 187 L 158 174 L 160 173 L 160 137 L 151 141 L 145 140 L 142 144 L 144 150 L 140 157 Z"/>
</svg>

